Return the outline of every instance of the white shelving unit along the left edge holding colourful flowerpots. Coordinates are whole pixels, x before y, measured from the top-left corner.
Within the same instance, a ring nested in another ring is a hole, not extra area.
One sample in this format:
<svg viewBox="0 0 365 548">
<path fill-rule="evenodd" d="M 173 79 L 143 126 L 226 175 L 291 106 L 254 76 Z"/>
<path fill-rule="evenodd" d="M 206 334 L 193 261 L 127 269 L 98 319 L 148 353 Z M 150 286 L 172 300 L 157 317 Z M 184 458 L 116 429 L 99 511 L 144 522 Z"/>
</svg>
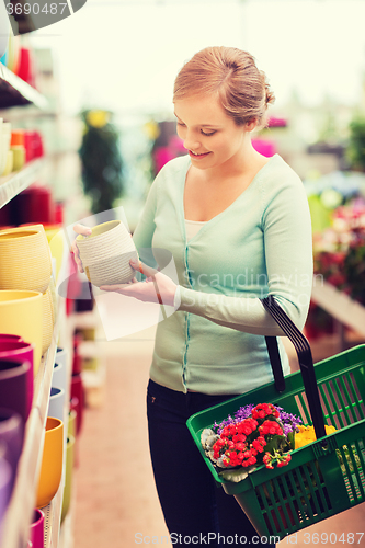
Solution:
<svg viewBox="0 0 365 548">
<path fill-rule="evenodd" d="M 0 117 L 11 122 L 21 122 L 27 116 L 30 119 L 45 116 L 56 118 L 57 113 L 49 110 L 47 100 L 37 90 L 0 64 Z M 22 170 L 13 172 L 7 178 L 0 178 L 0 208 L 34 183 L 49 161 L 53 159 L 48 157 L 37 159 L 26 163 Z M 67 277 L 67 269 L 68 248 L 66 246 L 61 265 L 64 272 L 59 274 L 61 279 Z M 18 465 L 15 484 L 4 517 L 2 540 L 7 548 L 27 547 L 30 524 L 36 503 L 55 356 L 59 342 L 61 341 L 62 344 L 69 335 L 65 329 L 66 300 L 58 295 L 57 300 L 57 320 L 53 340 L 47 353 L 42 357 L 38 373 L 34 379 L 33 406 L 25 425 L 23 450 Z M 68 401 L 69 398 L 68 400 L 66 398 L 67 403 Z M 67 429 L 68 418 L 67 403 L 65 406 L 65 429 Z M 66 456 L 66 447 L 64 450 Z M 64 463 L 66 463 L 66 458 L 64 458 Z M 65 465 L 56 495 L 48 506 L 42 509 L 45 514 L 45 548 L 59 547 L 64 479 Z"/>
</svg>

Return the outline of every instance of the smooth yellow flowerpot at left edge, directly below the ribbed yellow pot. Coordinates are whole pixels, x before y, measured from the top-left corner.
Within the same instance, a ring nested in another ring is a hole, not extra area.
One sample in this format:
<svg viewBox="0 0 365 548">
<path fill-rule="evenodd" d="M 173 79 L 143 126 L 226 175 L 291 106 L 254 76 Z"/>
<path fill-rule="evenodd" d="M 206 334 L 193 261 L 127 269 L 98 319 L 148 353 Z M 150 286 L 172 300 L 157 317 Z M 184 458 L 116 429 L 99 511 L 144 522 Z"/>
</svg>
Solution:
<svg viewBox="0 0 365 548">
<path fill-rule="evenodd" d="M 0 290 L 0 333 L 34 343 L 34 376 L 42 357 L 43 295 L 39 292 Z"/>
</svg>

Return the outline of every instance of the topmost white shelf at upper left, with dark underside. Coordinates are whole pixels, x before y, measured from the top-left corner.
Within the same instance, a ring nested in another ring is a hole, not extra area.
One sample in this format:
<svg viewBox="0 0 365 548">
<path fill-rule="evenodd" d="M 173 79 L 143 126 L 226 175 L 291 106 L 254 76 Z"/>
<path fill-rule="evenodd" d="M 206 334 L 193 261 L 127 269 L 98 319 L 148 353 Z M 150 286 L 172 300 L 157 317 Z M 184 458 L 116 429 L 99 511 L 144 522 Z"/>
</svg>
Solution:
<svg viewBox="0 0 365 548">
<path fill-rule="evenodd" d="M 33 104 L 46 110 L 48 101 L 35 88 L 32 88 L 14 72 L 0 64 L 0 107 Z"/>
</svg>

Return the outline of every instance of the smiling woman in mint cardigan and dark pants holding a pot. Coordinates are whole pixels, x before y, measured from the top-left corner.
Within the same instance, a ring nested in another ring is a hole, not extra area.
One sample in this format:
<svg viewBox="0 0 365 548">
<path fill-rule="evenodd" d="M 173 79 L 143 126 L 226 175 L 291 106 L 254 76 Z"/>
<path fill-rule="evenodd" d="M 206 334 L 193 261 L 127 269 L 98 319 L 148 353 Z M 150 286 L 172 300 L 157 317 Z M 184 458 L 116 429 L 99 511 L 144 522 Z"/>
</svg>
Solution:
<svg viewBox="0 0 365 548">
<path fill-rule="evenodd" d="M 306 320 L 312 252 L 305 191 L 278 155 L 265 158 L 251 142 L 273 100 L 246 52 L 209 47 L 185 64 L 173 103 L 189 156 L 161 169 L 134 233 L 137 249 L 172 253 L 179 285 L 133 263 L 147 283 L 102 287 L 145 301 L 157 301 L 158 287 L 176 310 L 158 324 L 147 393 L 153 473 L 175 544 L 270 546 L 216 487 L 185 422 L 272 381 L 264 335 L 283 333 L 261 298 L 274 296 L 299 329 Z"/>
</svg>

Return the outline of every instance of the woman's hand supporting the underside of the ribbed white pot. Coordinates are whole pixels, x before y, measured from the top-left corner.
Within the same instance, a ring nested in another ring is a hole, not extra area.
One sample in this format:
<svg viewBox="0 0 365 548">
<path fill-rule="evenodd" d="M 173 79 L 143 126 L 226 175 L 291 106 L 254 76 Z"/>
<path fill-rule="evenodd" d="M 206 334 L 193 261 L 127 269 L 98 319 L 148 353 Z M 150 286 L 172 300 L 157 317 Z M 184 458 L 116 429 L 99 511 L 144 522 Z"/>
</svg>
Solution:
<svg viewBox="0 0 365 548">
<path fill-rule="evenodd" d="M 136 278 L 133 278 L 128 284 L 123 285 L 102 285 L 100 289 L 121 293 L 142 302 L 159 302 L 160 305 L 173 306 L 178 286 L 169 276 L 140 261 L 132 259 L 129 264 L 134 270 L 145 274 L 147 278 L 144 282 L 137 282 Z"/>
</svg>

